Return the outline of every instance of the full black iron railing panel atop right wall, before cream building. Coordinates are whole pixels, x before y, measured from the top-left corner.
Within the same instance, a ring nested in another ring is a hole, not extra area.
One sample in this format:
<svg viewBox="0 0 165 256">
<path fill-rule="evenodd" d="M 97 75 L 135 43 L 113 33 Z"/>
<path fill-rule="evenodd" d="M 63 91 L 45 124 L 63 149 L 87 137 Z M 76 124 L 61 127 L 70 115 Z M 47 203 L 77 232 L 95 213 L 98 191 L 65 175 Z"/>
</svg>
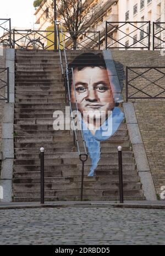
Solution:
<svg viewBox="0 0 165 256">
<path fill-rule="evenodd" d="M 150 50 L 150 21 L 106 21 L 106 49 Z"/>
</svg>

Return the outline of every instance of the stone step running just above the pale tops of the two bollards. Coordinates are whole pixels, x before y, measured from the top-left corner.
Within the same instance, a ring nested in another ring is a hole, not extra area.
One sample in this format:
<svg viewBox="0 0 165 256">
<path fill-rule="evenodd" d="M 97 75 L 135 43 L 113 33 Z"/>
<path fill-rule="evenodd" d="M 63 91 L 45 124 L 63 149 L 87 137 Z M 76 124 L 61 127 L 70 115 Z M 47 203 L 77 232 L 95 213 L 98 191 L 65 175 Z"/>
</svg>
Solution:
<svg viewBox="0 0 165 256">
<path fill-rule="evenodd" d="M 109 143 L 109 141 L 101 141 L 101 147 L 108 147 L 109 146 L 130 146 L 130 142 L 129 141 L 111 141 L 111 143 Z M 38 148 L 40 149 L 42 146 L 44 146 L 45 148 L 61 148 L 61 147 L 67 147 L 67 146 L 74 146 L 74 142 L 73 139 L 72 141 L 53 141 L 53 142 L 15 142 L 14 141 L 14 148 Z M 79 146 L 83 146 L 83 142 L 79 143 Z"/>
</svg>

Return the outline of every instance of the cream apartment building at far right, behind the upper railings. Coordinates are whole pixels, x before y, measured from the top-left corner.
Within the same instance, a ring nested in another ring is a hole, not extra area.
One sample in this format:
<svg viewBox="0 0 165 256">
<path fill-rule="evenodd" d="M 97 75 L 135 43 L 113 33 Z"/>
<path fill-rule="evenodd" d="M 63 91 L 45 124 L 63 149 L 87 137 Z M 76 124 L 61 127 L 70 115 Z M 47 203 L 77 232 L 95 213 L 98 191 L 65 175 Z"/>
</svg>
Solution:
<svg viewBox="0 0 165 256">
<path fill-rule="evenodd" d="M 118 15 L 119 21 L 129 21 L 131 24 L 123 25 L 122 31 L 118 31 L 119 47 L 140 47 L 144 48 L 147 46 L 149 36 L 149 24 L 146 21 L 151 22 L 151 37 L 150 37 L 150 48 L 152 50 L 153 45 L 153 22 L 164 22 L 165 21 L 165 0 L 119 0 L 118 1 Z M 141 21 L 141 23 L 138 23 Z M 164 31 L 160 26 L 164 28 L 164 24 L 158 24 L 155 26 L 155 32 L 158 34 L 155 38 L 157 45 L 161 44 L 164 40 Z M 140 28 L 140 29 L 136 29 Z M 129 36 L 125 36 L 125 34 Z M 124 37 L 124 38 L 123 38 Z"/>
</svg>

